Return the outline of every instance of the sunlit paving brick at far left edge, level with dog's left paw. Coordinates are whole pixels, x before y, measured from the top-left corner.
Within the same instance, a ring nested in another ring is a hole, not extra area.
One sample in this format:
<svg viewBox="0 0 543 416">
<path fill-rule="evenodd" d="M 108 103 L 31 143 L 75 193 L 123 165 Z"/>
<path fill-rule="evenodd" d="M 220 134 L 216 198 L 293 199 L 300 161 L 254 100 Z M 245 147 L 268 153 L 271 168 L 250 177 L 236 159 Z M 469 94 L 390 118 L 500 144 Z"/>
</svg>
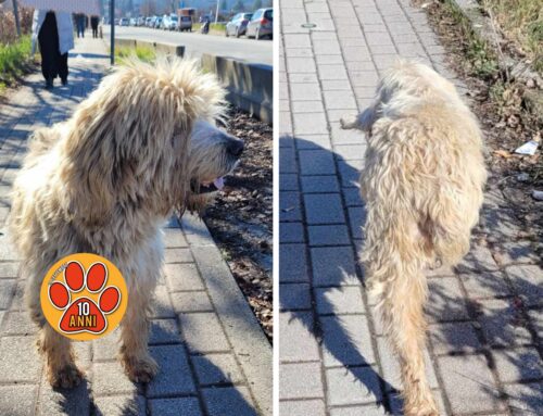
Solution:
<svg viewBox="0 0 543 416">
<path fill-rule="evenodd" d="M 36 339 L 4 337 L 0 339 L 0 382 L 38 382 L 42 358 L 36 349 Z"/>
</svg>

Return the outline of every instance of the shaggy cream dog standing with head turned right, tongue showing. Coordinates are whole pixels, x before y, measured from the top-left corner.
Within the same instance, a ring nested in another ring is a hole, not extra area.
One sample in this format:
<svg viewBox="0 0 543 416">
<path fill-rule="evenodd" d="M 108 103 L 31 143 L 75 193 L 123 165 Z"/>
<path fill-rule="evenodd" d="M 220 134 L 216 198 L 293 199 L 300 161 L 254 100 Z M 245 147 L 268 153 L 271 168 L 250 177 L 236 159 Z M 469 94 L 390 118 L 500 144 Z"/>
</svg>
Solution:
<svg viewBox="0 0 543 416">
<path fill-rule="evenodd" d="M 204 203 L 201 193 L 220 187 L 243 149 L 214 127 L 224 97 L 192 61 L 132 61 L 68 121 L 35 131 L 14 184 L 10 231 L 51 385 L 73 387 L 81 373 L 71 341 L 45 319 L 39 291 L 47 270 L 76 252 L 100 254 L 122 272 L 129 302 L 121 361 L 134 381 L 155 375 L 147 313 L 162 269 L 161 227 L 175 210 Z"/>
</svg>

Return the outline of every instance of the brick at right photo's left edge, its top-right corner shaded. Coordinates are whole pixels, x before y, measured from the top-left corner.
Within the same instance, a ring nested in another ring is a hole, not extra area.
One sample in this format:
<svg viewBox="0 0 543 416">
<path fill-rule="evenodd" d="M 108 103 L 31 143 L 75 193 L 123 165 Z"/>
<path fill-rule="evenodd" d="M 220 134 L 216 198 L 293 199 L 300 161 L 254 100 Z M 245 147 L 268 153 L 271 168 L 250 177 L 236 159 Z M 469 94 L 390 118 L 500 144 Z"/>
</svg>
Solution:
<svg viewBox="0 0 543 416">
<path fill-rule="evenodd" d="M 320 360 L 311 312 L 279 314 L 279 353 L 281 362 Z"/>
</svg>

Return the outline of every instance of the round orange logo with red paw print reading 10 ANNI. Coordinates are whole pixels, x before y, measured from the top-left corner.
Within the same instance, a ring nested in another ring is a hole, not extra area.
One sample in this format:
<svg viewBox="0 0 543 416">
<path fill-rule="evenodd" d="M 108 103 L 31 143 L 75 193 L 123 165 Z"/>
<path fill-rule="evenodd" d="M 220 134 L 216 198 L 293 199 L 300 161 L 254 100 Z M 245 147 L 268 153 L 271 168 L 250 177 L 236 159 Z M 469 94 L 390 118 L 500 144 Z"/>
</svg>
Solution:
<svg viewBox="0 0 543 416">
<path fill-rule="evenodd" d="M 77 340 L 94 339 L 113 330 L 127 303 L 126 285 L 118 269 L 89 253 L 73 254 L 51 267 L 41 297 L 51 326 Z"/>
</svg>

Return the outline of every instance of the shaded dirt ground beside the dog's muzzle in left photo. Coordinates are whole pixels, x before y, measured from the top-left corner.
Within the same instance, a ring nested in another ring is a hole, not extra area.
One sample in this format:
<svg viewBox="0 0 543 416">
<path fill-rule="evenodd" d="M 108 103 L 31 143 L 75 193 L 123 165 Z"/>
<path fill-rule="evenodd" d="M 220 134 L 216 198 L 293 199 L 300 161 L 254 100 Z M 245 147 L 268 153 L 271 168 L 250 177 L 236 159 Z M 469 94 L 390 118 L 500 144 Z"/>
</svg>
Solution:
<svg viewBox="0 0 543 416">
<path fill-rule="evenodd" d="M 243 139 L 245 148 L 203 219 L 272 341 L 273 129 L 235 111 L 228 131 Z"/>
</svg>

